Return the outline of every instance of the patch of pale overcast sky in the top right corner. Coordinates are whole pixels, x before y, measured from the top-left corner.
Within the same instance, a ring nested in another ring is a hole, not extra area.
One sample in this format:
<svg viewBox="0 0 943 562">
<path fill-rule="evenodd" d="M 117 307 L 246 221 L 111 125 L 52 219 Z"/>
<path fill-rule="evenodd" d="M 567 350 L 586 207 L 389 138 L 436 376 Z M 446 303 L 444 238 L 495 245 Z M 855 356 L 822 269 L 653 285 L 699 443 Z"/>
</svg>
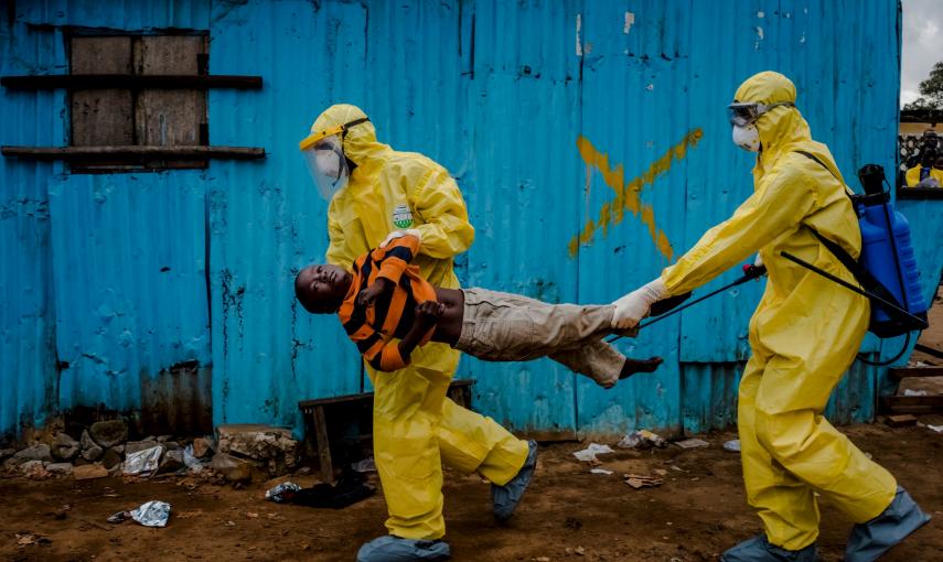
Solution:
<svg viewBox="0 0 943 562">
<path fill-rule="evenodd" d="M 903 0 L 900 105 L 920 96 L 920 83 L 943 61 L 943 0 Z"/>
</svg>

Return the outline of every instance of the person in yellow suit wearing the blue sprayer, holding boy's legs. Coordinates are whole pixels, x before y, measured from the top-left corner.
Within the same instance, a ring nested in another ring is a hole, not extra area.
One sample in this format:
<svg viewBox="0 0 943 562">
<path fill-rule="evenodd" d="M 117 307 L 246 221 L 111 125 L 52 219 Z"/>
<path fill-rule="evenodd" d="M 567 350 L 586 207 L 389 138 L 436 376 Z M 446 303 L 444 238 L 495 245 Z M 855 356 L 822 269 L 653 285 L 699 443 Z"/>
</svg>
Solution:
<svg viewBox="0 0 943 562">
<path fill-rule="evenodd" d="M 768 269 L 750 321 L 752 356 L 738 410 L 747 500 L 765 533 L 725 552 L 726 562 L 815 560 L 816 493 L 856 523 L 849 562 L 876 560 L 929 520 L 888 471 L 823 418 L 865 337 L 870 309 L 866 298 L 780 255 L 855 283 L 811 228 L 853 256 L 861 249 L 835 160 L 812 140 L 795 99 L 792 82 L 773 72 L 740 86 L 730 120 L 733 142 L 759 153 L 753 194 L 658 279 L 615 302 L 613 323 L 628 328 L 653 303 L 700 287 L 757 251 Z"/>
</svg>

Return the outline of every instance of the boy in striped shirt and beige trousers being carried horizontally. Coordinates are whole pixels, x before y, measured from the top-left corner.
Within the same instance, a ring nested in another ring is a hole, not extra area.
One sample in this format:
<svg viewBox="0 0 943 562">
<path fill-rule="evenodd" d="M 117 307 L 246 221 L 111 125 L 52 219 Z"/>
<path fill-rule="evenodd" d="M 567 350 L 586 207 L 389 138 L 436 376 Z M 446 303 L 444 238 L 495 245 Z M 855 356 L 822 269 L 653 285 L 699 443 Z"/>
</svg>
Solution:
<svg viewBox="0 0 943 562">
<path fill-rule="evenodd" d="M 547 304 L 486 289 L 432 287 L 409 264 L 418 249 L 419 239 L 404 235 L 357 258 L 353 273 L 308 266 L 294 278 L 294 295 L 310 313 L 337 313 L 364 359 L 383 371 L 409 365 L 412 350 L 430 341 L 486 361 L 549 357 L 603 388 L 662 363 L 628 358 L 603 342 L 625 332 L 612 327 L 611 304 Z"/>
</svg>

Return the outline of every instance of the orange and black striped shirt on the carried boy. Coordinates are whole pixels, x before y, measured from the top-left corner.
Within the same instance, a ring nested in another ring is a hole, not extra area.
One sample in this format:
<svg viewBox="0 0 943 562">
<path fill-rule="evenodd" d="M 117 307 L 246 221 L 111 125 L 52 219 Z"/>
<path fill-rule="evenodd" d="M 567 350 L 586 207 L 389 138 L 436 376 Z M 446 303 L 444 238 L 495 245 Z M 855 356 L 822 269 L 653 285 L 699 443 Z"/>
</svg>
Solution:
<svg viewBox="0 0 943 562">
<path fill-rule="evenodd" d="M 354 261 L 354 280 L 337 311 L 347 336 L 357 345 L 364 359 L 376 370 L 393 371 L 409 361 L 399 354 L 399 338 L 409 332 L 416 318 L 416 305 L 436 300 L 436 290 L 419 277 L 419 268 L 409 262 L 419 251 L 419 239 L 403 236 L 386 248 L 376 248 Z M 373 304 L 361 306 L 357 294 L 378 278 L 394 284 L 392 291 L 379 295 Z M 419 342 L 432 337 L 435 326 Z"/>
</svg>

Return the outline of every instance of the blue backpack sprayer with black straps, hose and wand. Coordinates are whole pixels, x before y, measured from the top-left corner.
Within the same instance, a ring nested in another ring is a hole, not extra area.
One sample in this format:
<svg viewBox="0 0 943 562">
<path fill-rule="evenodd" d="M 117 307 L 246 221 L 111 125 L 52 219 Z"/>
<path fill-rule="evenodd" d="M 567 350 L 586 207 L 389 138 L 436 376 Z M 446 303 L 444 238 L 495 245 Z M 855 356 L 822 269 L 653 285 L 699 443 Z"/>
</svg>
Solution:
<svg viewBox="0 0 943 562">
<path fill-rule="evenodd" d="M 813 154 L 802 151 L 800 154 L 814 160 L 832 172 L 824 162 Z M 857 260 L 836 242 L 825 238 L 807 225 L 806 227 L 842 264 L 848 268 L 860 287 L 855 287 L 790 252 L 783 251 L 781 255 L 783 258 L 829 281 L 867 296 L 871 303 L 868 331 L 876 336 L 888 338 L 907 334 L 900 353 L 891 359 L 874 363 L 859 357 L 862 363 L 868 365 L 883 366 L 898 360 L 904 354 L 910 345 L 911 332 L 925 329 L 929 326 L 926 322 L 929 306 L 920 294 L 920 270 L 910 241 L 910 225 L 903 215 L 893 209 L 893 203 L 890 201 L 890 188 L 885 191 L 887 181 L 883 169 L 877 164 L 867 164 L 858 171 L 858 179 L 865 188 L 865 193 L 862 195 L 848 194 L 858 216 L 858 225 L 861 228 L 861 253 Z M 690 293 L 655 303 L 652 306 L 652 315 L 656 317 L 643 322 L 639 327 L 650 326 L 718 293 L 746 283 L 751 279 L 758 279 L 765 271 L 764 267 L 743 266 L 743 275 L 740 279 L 683 306 L 677 305 L 687 300 Z M 614 342 L 620 337 L 622 336 L 614 336 L 609 342 Z"/>
</svg>

